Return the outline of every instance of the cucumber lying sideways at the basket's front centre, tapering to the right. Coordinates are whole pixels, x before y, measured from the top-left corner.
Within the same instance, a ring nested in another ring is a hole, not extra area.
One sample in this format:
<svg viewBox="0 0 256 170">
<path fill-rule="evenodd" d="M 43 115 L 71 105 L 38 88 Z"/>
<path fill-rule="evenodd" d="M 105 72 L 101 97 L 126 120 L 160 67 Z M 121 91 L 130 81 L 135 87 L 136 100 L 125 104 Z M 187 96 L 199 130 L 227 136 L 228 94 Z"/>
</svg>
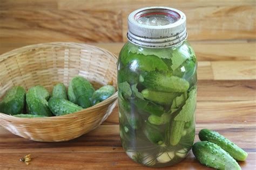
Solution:
<svg viewBox="0 0 256 170">
<path fill-rule="evenodd" d="M 79 107 L 79 105 L 76 105 L 65 98 L 52 97 L 48 104 L 49 108 L 56 116 L 72 114 L 73 112 L 83 110 L 82 107 Z"/>
</svg>

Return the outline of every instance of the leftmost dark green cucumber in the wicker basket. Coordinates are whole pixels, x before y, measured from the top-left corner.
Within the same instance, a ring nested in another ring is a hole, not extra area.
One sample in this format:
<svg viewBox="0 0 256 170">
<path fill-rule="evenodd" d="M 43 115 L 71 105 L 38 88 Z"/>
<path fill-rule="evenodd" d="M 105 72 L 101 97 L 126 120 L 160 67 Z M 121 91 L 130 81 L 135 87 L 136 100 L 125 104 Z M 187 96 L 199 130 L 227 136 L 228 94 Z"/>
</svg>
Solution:
<svg viewBox="0 0 256 170">
<path fill-rule="evenodd" d="M 26 91 L 21 86 L 14 86 L 7 91 L 0 102 L 0 112 L 8 115 L 22 114 Z"/>
</svg>

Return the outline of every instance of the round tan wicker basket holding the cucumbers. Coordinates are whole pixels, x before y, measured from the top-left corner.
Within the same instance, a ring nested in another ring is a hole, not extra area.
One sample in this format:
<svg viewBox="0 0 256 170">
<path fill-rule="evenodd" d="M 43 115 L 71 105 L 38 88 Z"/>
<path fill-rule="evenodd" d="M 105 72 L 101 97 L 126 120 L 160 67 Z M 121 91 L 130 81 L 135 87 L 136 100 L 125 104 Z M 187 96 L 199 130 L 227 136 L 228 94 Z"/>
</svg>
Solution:
<svg viewBox="0 0 256 170">
<path fill-rule="evenodd" d="M 95 88 L 109 82 L 116 87 L 117 57 L 105 49 L 73 42 L 52 42 L 14 49 L 0 55 L 0 98 L 12 86 L 26 90 L 41 84 L 48 91 L 72 77 L 86 77 Z M 117 104 L 117 93 L 74 114 L 47 118 L 17 118 L 0 113 L 0 125 L 36 141 L 65 141 L 99 126 Z"/>
</svg>

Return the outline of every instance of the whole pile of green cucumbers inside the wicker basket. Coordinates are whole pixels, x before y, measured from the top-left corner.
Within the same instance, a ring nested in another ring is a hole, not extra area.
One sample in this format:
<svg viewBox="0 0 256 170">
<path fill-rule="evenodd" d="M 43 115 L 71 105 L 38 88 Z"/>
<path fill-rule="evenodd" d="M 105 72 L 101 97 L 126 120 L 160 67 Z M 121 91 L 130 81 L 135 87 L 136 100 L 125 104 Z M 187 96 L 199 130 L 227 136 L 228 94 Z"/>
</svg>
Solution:
<svg viewBox="0 0 256 170">
<path fill-rule="evenodd" d="M 110 85 L 95 90 L 82 76 L 73 77 L 68 93 L 63 83 L 56 84 L 51 95 L 40 85 L 31 87 L 27 93 L 23 87 L 15 86 L 0 102 L 0 112 L 24 118 L 66 115 L 98 104 L 115 91 Z"/>
</svg>

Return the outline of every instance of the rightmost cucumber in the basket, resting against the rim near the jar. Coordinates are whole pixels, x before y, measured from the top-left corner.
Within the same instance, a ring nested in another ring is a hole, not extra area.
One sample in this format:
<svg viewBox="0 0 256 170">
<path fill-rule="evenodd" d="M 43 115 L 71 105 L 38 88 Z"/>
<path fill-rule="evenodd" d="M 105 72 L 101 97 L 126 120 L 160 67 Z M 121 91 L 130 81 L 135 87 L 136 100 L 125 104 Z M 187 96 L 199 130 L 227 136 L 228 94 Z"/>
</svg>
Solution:
<svg viewBox="0 0 256 170">
<path fill-rule="evenodd" d="M 99 88 L 92 94 L 91 104 L 95 105 L 106 100 L 107 98 L 112 96 L 115 91 L 116 90 L 114 89 L 114 87 L 110 85 L 106 85 Z"/>
</svg>

